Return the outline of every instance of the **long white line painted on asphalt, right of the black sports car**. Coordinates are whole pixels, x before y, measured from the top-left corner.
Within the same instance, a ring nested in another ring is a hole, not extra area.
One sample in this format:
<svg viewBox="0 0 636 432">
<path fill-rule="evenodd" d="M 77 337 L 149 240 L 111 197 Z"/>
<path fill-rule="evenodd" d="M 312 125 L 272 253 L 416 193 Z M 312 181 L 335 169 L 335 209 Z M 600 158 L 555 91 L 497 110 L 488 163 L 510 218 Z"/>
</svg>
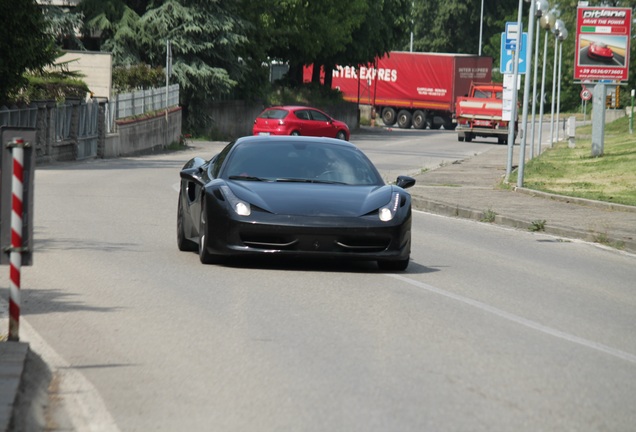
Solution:
<svg viewBox="0 0 636 432">
<path fill-rule="evenodd" d="M 548 327 L 548 326 L 544 326 L 543 324 L 539 324 L 537 322 L 530 321 L 530 320 L 525 319 L 523 317 L 520 317 L 518 315 L 503 311 L 501 309 L 497 309 L 495 307 L 492 307 L 492 306 L 487 305 L 485 303 L 482 303 L 480 301 L 473 300 L 473 299 L 470 299 L 468 297 L 461 296 L 459 294 L 454 294 L 452 292 L 445 291 L 443 289 L 436 288 L 436 287 L 434 287 L 432 285 L 429 285 L 429 284 L 426 284 L 426 283 L 423 283 L 423 282 L 418 282 L 416 280 L 409 279 L 407 277 L 404 277 L 404 276 L 401 276 L 401 275 L 398 275 L 398 274 L 389 274 L 389 273 L 387 273 L 386 276 L 392 277 L 394 279 L 398 279 L 398 280 L 400 280 L 402 282 L 406 282 L 406 283 L 408 283 L 410 285 L 416 286 L 418 288 L 422 288 L 422 289 L 424 289 L 426 291 L 429 291 L 429 292 L 432 292 L 432 293 L 435 293 L 435 294 L 450 298 L 452 300 L 456 300 L 456 301 L 462 302 L 462 303 L 467 304 L 469 306 L 472 306 L 472 307 L 475 307 L 477 309 L 480 309 L 480 310 L 482 310 L 484 312 L 488 312 L 488 313 L 490 313 L 492 315 L 496 315 L 496 316 L 498 316 L 500 318 L 507 319 L 508 321 L 512 321 L 514 323 L 520 324 L 522 326 L 528 327 L 528 328 L 533 329 L 533 330 L 537 330 L 537 331 L 545 333 L 547 335 L 550 335 L 550 336 L 553 336 L 553 337 L 556 337 L 556 338 L 559 338 L 559 339 L 563 339 L 563 340 L 566 340 L 568 342 L 572 342 L 572 343 L 584 346 L 586 348 L 591 348 L 593 350 L 600 351 L 600 352 L 605 353 L 605 354 L 609 354 L 609 355 L 611 355 L 613 357 L 616 357 L 616 358 L 619 358 L 621 360 L 626 360 L 626 361 L 631 362 L 631 363 L 636 363 L 636 355 L 634 355 L 634 354 L 630 354 L 630 353 L 627 353 L 627 352 L 624 352 L 624 351 L 609 347 L 607 345 L 603 345 L 603 344 L 600 344 L 600 343 L 597 343 L 597 342 L 593 342 L 593 341 L 590 341 L 590 340 L 587 340 L 587 339 L 583 339 L 581 337 L 574 336 L 574 335 L 571 335 L 569 333 L 565 333 L 565 332 L 553 329 L 553 328 Z"/>
</svg>

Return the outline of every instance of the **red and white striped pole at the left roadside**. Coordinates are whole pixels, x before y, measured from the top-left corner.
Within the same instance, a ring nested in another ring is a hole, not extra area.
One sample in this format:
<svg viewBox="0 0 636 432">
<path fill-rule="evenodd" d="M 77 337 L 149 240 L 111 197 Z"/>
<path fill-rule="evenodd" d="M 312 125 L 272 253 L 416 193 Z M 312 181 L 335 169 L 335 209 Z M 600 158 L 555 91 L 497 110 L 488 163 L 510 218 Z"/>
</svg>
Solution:
<svg viewBox="0 0 636 432">
<path fill-rule="evenodd" d="M 9 292 L 9 340 L 19 341 L 20 272 L 22 270 L 22 197 L 24 177 L 24 140 L 14 138 L 10 144 L 13 156 L 11 181 L 11 253 L 9 255 L 11 286 Z"/>
</svg>

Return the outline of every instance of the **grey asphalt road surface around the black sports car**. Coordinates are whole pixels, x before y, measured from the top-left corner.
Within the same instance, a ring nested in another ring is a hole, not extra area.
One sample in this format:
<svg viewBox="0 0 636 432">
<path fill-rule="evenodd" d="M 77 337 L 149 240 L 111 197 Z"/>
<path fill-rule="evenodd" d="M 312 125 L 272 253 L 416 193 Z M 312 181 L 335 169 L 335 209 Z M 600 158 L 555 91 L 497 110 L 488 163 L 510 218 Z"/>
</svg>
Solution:
<svg viewBox="0 0 636 432">
<path fill-rule="evenodd" d="M 353 141 L 389 178 L 496 145 Z M 76 430 L 633 428 L 633 255 L 415 212 L 404 273 L 203 266 L 175 241 L 194 153 L 36 172 L 21 340 L 56 369 Z"/>
</svg>

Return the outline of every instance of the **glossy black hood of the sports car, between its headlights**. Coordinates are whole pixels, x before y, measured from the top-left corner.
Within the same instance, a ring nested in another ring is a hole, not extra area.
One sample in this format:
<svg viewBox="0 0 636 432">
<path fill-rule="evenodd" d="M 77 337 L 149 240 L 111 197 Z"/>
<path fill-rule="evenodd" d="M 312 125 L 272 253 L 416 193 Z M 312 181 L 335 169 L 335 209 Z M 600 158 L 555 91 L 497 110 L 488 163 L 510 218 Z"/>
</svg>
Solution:
<svg viewBox="0 0 636 432">
<path fill-rule="evenodd" d="M 393 186 L 231 181 L 234 194 L 275 214 L 358 217 L 391 199 Z"/>
</svg>

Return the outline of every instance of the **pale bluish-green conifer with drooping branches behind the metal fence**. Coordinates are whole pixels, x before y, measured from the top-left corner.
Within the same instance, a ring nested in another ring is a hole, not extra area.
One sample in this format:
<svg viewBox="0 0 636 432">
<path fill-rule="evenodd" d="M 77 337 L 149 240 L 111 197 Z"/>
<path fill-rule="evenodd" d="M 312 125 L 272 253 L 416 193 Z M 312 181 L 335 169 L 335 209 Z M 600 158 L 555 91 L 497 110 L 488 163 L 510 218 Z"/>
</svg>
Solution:
<svg viewBox="0 0 636 432">
<path fill-rule="evenodd" d="M 164 0 L 151 6 L 139 21 L 140 58 L 152 66 L 165 64 L 171 41 L 172 79 L 180 84 L 189 126 L 199 128 L 205 121 L 197 117 L 199 108 L 229 94 L 247 72 L 240 57 L 246 23 L 234 0 Z"/>
</svg>

